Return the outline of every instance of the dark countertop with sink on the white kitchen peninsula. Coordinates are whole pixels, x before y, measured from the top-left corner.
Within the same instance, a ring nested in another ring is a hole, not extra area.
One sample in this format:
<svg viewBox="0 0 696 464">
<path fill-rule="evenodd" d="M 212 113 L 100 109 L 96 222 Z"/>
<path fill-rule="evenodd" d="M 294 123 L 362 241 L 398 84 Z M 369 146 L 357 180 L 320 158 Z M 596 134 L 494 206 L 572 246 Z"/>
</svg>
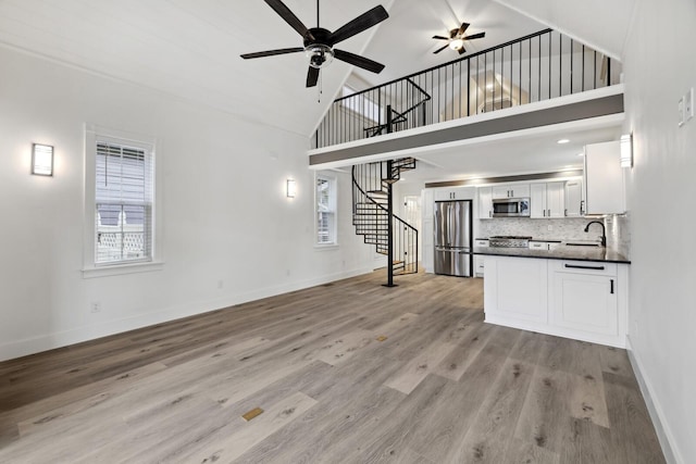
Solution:
<svg viewBox="0 0 696 464">
<path fill-rule="evenodd" d="M 569 247 L 561 244 L 548 251 L 530 250 L 529 248 L 474 247 L 473 254 L 631 264 L 631 261 L 623 254 L 602 247 Z"/>
</svg>

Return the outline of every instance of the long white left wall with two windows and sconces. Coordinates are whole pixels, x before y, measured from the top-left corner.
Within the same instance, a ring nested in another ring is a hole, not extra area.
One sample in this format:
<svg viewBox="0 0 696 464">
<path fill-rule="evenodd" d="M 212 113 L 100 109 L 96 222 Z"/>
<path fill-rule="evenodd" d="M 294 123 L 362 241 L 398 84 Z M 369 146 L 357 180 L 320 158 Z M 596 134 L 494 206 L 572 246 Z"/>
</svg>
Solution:
<svg viewBox="0 0 696 464">
<path fill-rule="evenodd" d="M 0 75 L 0 360 L 370 271 L 349 175 L 340 246 L 313 247 L 308 137 L 8 49 Z M 85 123 L 157 137 L 162 271 L 83 278 Z M 32 142 L 54 177 L 29 175 Z"/>
</svg>

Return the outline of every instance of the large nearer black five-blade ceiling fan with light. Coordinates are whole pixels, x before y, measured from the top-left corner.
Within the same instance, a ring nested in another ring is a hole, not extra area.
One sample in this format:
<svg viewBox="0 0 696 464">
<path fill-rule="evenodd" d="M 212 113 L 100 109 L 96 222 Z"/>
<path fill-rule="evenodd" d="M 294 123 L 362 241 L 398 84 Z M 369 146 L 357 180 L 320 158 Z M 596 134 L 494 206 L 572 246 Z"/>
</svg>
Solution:
<svg viewBox="0 0 696 464">
<path fill-rule="evenodd" d="M 278 15 L 281 15 L 281 17 L 285 20 L 290 27 L 302 36 L 304 47 L 245 53 L 241 55 L 245 60 L 303 51 L 309 58 L 307 87 L 314 87 L 316 85 L 316 81 L 319 80 L 319 71 L 328 65 L 334 58 L 373 73 L 380 73 L 384 70 L 384 64 L 377 63 L 376 61 L 350 53 L 349 51 L 334 49 L 336 43 L 346 40 L 356 34 L 360 34 L 389 17 L 384 7 L 377 5 L 332 33 L 323 27 L 319 27 L 319 0 L 316 0 L 316 27 L 311 28 L 307 28 L 281 0 L 264 1 Z"/>
</svg>

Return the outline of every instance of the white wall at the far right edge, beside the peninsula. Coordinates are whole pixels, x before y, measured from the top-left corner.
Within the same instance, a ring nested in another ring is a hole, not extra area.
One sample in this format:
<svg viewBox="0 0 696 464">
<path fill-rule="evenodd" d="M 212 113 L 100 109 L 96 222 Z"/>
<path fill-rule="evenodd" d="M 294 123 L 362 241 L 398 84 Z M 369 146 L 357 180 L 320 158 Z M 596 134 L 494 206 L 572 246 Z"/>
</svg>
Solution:
<svg viewBox="0 0 696 464">
<path fill-rule="evenodd" d="M 687 209 L 696 198 L 696 118 L 678 128 L 676 102 L 696 87 L 695 23 L 693 0 L 641 0 L 623 59 L 635 149 L 630 341 L 662 439 L 681 463 L 696 462 L 696 216 Z"/>
</svg>

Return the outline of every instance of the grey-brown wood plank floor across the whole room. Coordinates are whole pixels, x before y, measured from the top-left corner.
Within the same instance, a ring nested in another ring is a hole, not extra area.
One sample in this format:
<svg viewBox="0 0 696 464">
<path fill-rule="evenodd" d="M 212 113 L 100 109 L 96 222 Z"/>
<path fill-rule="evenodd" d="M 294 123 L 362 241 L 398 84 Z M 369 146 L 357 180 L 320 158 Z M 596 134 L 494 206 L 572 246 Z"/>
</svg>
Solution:
<svg viewBox="0 0 696 464">
<path fill-rule="evenodd" d="M 0 462 L 664 462 L 625 351 L 484 324 L 481 279 L 384 279 L 0 363 Z"/>
</svg>

